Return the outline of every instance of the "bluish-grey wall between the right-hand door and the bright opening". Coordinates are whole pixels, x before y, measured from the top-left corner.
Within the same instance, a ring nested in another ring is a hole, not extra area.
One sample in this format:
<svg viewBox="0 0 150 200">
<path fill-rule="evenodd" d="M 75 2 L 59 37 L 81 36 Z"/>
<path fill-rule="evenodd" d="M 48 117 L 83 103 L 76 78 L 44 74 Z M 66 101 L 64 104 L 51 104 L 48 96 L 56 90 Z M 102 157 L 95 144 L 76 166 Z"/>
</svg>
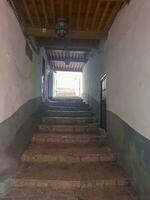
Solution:
<svg viewBox="0 0 150 200">
<path fill-rule="evenodd" d="M 100 122 L 100 80 L 105 74 L 104 43 L 92 50 L 83 70 L 83 98 L 90 104 Z"/>
</svg>

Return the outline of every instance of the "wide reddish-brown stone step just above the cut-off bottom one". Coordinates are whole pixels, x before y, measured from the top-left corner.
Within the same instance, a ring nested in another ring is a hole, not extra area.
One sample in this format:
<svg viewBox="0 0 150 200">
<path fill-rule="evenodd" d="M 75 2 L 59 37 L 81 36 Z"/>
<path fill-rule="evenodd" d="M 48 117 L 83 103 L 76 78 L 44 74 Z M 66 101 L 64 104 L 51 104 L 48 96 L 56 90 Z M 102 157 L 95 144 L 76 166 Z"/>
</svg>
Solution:
<svg viewBox="0 0 150 200">
<path fill-rule="evenodd" d="M 15 187 L 56 190 L 128 185 L 124 172 L 111 163 L 24 164 L 12 181 Z"/>
</svg>

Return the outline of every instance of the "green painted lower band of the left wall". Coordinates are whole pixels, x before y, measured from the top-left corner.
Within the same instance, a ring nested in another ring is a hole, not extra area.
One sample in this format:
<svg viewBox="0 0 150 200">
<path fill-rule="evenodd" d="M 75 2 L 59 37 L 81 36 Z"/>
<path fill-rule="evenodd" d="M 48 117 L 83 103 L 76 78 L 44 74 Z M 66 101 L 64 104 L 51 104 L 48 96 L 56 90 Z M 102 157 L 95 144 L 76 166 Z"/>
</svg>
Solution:
<svg viewBox="0 0 150 200">
<path fill-rule="evenodd" d="M 39 122 L 40 105 L 41 97 L 32 99 L 0 123 L 0 174 L 17 167 Z"/>
</svg>

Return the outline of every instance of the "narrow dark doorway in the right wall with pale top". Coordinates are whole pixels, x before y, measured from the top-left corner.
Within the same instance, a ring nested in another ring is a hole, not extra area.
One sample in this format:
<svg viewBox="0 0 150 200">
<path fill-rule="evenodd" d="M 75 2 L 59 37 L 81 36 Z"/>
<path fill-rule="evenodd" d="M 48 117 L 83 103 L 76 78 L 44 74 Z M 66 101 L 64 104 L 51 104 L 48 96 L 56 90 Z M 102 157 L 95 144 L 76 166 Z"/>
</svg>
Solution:
<svg viewBox="0 0 150 200">
<path fill-rule="evenodd" d="M 100 125 L 101 128 L 107 128 L 107 119 L 106 119 L 106 75 L 103 76 L 100 82 L 100 98 L 101 98 L 101 106 L 100 106 Z"/>
</svg>

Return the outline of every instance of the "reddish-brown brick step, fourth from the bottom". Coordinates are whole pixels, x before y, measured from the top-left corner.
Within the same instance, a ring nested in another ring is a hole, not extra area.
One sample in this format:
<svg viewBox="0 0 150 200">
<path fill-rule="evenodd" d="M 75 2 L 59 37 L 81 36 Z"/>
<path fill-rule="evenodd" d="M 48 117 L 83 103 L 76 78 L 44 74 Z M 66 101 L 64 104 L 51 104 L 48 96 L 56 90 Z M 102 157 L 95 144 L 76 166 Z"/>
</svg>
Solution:
<svg viewBox="0 0 150 200">
<path fill-rule="evenodd" d="M 72 144 L 72 143 L 99 143 L 103 144 L 106 140 L 106 135 L 100 134 L 66 134 L 66 133 L 42 133 L 35 134 L 32 142 L 36 144 L 46 143 L 59 143 L 59 144 Z"/>
</svg>

